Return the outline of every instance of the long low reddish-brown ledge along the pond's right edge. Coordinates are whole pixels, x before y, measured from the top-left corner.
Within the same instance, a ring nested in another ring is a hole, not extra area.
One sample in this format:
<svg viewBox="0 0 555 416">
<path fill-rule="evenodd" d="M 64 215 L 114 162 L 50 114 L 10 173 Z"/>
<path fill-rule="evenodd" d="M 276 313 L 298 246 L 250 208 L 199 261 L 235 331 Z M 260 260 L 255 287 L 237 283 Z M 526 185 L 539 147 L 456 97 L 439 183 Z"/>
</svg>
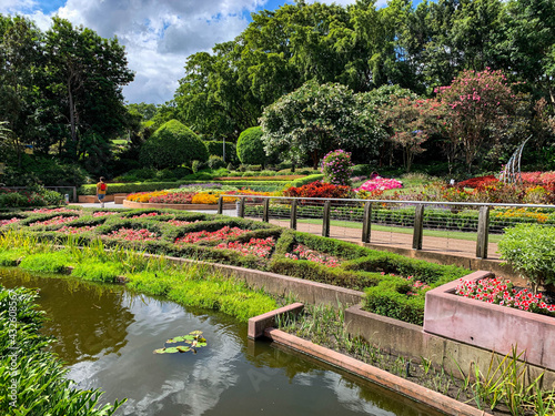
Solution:
<svg viewBox="0 0 555 416">
<path fill-rule="evenodd" d="M 294 335 L 279 329 L 268 328 L 264 335 L 279 344 L 286 345 L 293 349 L 316 357 L 333 366 L 344 368 L 350 373 L 367 378 L 375 384 L 386 387 L 395 393 L 411 397 L 434 409 L 447 415 L 461 416 L 488 416 L 490 414 L 478 410 L 472 406 L 465 405 L 440 393 L 422 387 L 405 378 L 394 376 L 383 369 L 365 364 L 352 357 L 334 352 L 332 349 L 315 345 L 309 341 L 299 338 Z"/>
</svg>

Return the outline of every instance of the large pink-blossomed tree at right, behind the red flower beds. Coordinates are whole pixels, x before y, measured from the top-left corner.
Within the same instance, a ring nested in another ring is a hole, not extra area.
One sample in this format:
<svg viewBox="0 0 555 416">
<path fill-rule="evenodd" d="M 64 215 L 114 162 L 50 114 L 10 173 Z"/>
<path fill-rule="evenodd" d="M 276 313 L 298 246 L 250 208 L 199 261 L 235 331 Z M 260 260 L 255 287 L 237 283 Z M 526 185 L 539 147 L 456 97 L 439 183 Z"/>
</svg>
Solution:
<svg viewBox="0 0 555 416">
<path fill-rule="evenodd" d="M 509 121 L 517 97 L 501 71 L 464 71 L 451 85 L 435 89 L 445 106 L 446 143 L 450 168 L 458 149 L 471 171 L 485 142 L 500 139 Z"/>
</svg>

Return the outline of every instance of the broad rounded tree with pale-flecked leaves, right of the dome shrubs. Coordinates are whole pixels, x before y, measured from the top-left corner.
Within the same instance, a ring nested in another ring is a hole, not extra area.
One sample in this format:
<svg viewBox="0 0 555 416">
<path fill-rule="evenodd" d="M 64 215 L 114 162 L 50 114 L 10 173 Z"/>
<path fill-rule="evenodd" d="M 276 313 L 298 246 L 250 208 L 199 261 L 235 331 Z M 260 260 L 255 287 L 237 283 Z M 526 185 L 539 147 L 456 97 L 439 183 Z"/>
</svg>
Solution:
<svg viewBox="0 0 555 416">
<path fill-rule="evenodd" d="M 316 169 L 335 149 L 377 153 L 383 131 L 376 119 L 346 87 L 309 81 L 266 106 L 260 122 L 266 154 L 283 148 L 293 163 L 309 156 Z"/>
</svg>

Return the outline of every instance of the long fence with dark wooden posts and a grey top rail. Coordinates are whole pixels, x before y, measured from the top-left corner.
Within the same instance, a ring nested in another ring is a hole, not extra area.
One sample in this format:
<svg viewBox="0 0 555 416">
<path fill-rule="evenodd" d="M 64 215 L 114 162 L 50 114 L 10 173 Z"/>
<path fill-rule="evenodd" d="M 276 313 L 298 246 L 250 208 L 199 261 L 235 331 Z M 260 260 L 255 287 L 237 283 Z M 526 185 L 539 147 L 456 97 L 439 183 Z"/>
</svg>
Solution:
<svg viewBox="0 0 555 416">
<path fill-rule="evenodd" d="M 518 223 L 555 225 L 555 205 L 233 195 L 236 215 L 327 237 L 465 251 L 498 258 L 495 242 Z M 219 200 L 222 213 L 223 199 Z M 493 243 L 491 242 L 493 241 Z M 474 248 L 470 248 L 472 243 Z"/>
</svg>

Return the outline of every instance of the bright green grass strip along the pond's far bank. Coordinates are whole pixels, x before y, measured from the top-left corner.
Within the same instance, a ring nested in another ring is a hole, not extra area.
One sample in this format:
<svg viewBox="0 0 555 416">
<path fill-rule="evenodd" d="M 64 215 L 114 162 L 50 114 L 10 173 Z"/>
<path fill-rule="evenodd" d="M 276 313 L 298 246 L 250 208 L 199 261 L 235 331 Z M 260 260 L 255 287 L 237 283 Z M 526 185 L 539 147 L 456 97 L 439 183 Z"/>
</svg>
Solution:
<svg viewBox="0 0 555 416">
<path fill-rule="evenodd" d="M 11 233 L 0 236 L 0 261 L 21 257 L 26 247 L 19 265 L 27 271 L 67 273 L 68 266 L 73 266 L 72 276 L 107 283 L 123 275 L 130 290 L 163 295 L 183 306 L 221 311 L 240 322 L 278 307 L 270 295 L 206 265 L 176 266 L 163 256 L 144 256 L 119 246 L 107 251 L 100 240 L 84 247 L 79 247 L 72 236 L 64 243 L 63 248 L 53 243 L 30 246 L 24 235 Z"/>
</svg>

